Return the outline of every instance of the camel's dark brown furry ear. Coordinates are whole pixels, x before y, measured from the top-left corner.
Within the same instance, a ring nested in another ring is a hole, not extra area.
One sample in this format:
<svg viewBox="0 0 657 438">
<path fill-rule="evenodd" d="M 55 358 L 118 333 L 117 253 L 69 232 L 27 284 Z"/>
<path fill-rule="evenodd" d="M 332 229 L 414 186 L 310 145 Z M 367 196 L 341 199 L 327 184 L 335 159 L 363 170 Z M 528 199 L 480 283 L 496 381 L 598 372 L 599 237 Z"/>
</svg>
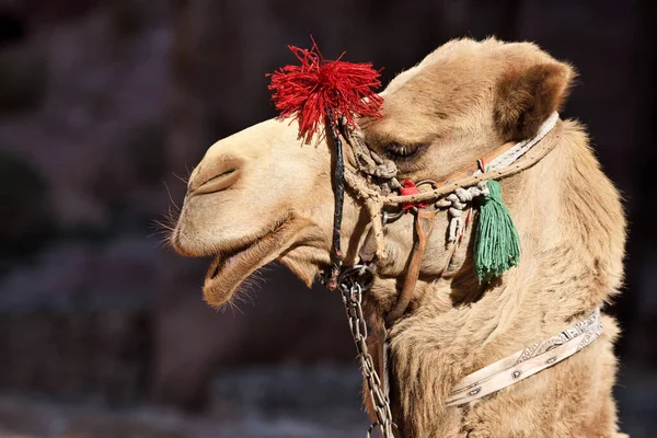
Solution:
<svg viewBox="0 0 657 438">
<path fill-rule="evenodd" d="M 497 84 L 495 125 L 505 141 L 535 136 L 568 94 L 573 69 L 561 62 L 508 71 Z"/>
</svg>

